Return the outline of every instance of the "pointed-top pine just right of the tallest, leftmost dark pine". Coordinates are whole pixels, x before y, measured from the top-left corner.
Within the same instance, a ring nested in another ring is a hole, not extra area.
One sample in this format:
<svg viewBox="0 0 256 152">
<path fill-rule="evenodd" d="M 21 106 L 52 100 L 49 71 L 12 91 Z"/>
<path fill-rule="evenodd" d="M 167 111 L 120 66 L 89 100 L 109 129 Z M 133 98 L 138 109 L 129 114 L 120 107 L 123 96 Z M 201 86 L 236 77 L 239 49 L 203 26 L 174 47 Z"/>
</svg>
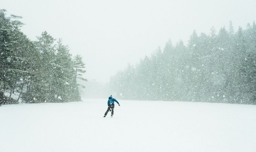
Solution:
<svg viewBox="0 0 256 152">
<path fill-rule="evenodd" d="M 37 50 L 40 52 L 40 60 L 36 69 L 33 88 L 29 91 L 34 92 L 34 102 L 53 102 L 54 94 L 54 69 L 55 69 L 55 39 L 46 31 L 37 37 L 35 42 Z"/>
</svg>

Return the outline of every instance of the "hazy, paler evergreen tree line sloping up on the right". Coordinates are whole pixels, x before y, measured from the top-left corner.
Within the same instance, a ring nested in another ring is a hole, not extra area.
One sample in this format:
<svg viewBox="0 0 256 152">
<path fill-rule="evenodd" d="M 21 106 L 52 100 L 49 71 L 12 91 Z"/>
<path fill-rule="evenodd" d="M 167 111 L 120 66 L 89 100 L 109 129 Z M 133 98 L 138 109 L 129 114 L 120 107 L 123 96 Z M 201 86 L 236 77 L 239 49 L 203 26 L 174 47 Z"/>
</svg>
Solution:
<svg viewBox="0 0 256 152">
<path fill-rule="evenodd" d="M 169 40 L 110 80 L 119 98 L 256 104 L 256 25 Z"/>
</svg>

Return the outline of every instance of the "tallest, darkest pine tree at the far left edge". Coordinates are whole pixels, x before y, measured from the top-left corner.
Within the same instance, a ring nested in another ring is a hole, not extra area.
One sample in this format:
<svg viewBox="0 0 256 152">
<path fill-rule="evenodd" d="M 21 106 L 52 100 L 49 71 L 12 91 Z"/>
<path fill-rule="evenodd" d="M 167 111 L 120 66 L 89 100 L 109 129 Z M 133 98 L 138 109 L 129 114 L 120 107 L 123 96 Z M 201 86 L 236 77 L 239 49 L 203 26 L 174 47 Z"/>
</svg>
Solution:
<svg viewBox="0 0 256 152">
<path fill-rule="evenodd" d="M 21 17 L 11 15 L 5 17 L 6 10 L 0 11 L 0 46 L 1 46 L 1 74 L 0 85 L 2 91 L 9 92 L 9 103 L 17 103 L 23 88 L 27 83 L 27 77 L 33 73 L 33 61 L 37 53 L 32 42 L 20 31 L 24 25 L 17 19 Z M 19 97 L 14 101 L 11 96 L 14 92 Z"/>
</svg>

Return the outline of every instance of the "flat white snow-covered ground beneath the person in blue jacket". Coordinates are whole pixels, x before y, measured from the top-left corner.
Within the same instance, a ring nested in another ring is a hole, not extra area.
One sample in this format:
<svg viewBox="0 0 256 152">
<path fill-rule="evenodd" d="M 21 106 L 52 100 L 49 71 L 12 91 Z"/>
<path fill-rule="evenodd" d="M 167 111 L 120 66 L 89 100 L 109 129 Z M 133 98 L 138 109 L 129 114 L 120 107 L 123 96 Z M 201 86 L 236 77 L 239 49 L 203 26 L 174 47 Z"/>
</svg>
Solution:
<svg viewBox="0 0 256 152">
<path fill-rule="evenodd" d="M 2 105 L 0 152 L 255 152 L 256 106 L 107 99 Z"/>
</svg>

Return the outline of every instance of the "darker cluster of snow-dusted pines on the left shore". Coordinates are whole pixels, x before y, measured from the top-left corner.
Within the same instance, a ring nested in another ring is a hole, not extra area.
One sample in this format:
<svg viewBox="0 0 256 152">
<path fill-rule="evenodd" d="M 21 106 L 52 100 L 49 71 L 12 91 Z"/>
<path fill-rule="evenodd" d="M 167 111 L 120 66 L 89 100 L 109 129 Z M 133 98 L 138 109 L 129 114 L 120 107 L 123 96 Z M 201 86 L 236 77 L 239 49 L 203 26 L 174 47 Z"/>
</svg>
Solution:
<svg viewBox="0 0 256 152">
<path fill-rule="evenodd" d="M 18 19 L 0 10 L 0 105 L 20 99 L 25 103 L 81 100 L 77 80 L 86 81 L 82 57 L 73 58 L 68 46 L 46 31 L 36 41 L 29 40 Z"/>
</svg>

